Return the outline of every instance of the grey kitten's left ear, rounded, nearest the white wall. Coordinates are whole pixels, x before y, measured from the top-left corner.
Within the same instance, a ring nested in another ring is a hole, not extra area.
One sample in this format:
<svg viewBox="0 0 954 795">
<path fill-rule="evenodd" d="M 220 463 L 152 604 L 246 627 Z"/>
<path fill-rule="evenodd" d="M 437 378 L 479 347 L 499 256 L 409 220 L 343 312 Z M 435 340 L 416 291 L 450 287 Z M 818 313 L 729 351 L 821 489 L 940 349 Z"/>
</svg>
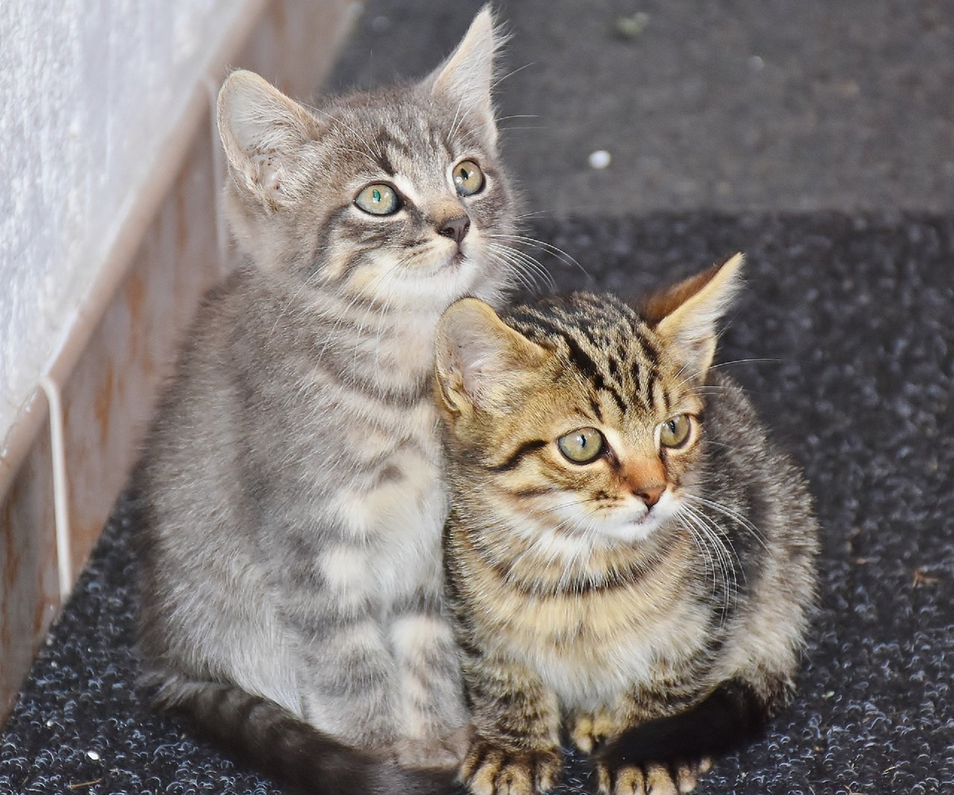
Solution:
<svg viewBox="0 0 954 795">
<path fill-rule="evenodd" d="M 218 135 L 240 186 L 270 203 L 304 184 L 299 158 L 318 119 L 254 72 L 231 73 L 218 92 Z"/>
</svg>

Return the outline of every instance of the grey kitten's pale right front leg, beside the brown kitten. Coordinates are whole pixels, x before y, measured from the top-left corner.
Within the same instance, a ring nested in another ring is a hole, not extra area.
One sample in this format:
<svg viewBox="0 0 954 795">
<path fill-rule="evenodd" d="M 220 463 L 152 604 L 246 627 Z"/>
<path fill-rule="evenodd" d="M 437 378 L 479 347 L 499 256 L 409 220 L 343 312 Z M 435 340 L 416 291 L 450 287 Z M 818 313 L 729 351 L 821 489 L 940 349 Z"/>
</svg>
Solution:
<svg viewBox="0 0 954 795">
<path fill-rule="evenodd" d="M 395 751 L 408 767 L 453 768 L 464 760 L 469 739 L 457 644 L 436 598 L 416 601 L 423 606 L 390 627 L 402 735 Z"/>
</svg>

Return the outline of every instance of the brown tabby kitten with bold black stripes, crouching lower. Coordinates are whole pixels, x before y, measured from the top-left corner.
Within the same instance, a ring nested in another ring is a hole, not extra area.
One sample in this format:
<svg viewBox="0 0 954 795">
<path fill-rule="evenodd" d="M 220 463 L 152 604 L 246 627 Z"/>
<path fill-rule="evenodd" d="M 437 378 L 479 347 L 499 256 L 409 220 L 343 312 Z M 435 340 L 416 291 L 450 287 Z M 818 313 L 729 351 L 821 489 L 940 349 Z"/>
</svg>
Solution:
<svg viewBox="0 0 954 795">
<path fill-rule="evenodd" d="M 791 698 L 815 592 L 804 480 L 710 368 L 742 258 L 641 312 L 465 299 L 437 332 L 446 577 L 476 795 L 530 795 L 560 731 L 607 795 L 688 792 Z"/>
</svg>

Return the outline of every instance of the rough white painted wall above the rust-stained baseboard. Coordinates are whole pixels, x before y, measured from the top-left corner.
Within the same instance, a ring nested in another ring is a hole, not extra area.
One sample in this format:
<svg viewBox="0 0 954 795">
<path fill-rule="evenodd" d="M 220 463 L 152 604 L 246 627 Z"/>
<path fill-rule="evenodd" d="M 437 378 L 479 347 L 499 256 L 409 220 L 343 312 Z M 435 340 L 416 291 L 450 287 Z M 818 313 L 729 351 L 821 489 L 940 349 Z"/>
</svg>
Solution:
<svg viewBox="0 0 954 795">
<path fill-rule="evenodd" d="M 260 7 L 0 2 L 0 441 L 77 320 L 218 43 Z"/>
</svg>

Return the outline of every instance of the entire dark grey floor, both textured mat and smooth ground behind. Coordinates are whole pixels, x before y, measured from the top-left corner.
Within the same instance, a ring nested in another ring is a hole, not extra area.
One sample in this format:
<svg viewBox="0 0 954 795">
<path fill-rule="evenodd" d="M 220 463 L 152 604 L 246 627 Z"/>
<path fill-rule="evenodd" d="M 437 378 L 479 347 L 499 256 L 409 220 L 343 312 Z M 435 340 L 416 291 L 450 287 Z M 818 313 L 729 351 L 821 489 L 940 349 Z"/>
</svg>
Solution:
<svg viewBox="0 0 954 795">
<path fill-rule="evenodd" d="M 427 72 L 478 6 L 372 0 L 332 84 Z M 510 68 L 535 63 L 501 84 L 503 113 L 541 116 L 504 123 L 542 128 L 504 145 L 529 209 L 554 211 L 531 234 L 590 276 L 534 253 L 561 287 L 638 293 L 746 251 L 720 355 L 776 360 L 727 369 L 817 499 L 821 612 L 798 700 L 698 792 L 954 792 L 954 7 L 503 7 Z M 615 38 L 639 10 L 645 30 Z M 610 169 L 587 165 L 597 148 Z M 276 795 L 135 687 L 124 514 L 0 734 L 0 795 Z"/>
</svg>

